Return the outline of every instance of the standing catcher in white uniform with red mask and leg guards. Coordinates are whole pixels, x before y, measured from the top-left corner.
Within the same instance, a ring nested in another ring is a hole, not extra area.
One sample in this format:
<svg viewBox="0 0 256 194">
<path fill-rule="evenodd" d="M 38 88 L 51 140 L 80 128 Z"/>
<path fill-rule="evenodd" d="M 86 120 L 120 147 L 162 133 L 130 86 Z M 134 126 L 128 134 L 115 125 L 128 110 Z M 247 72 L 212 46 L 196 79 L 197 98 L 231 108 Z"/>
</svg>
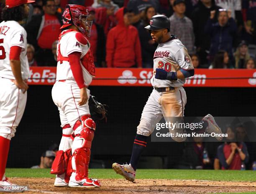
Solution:
<svg viewBox="0 0 256 194">
<path fill-rule="evenodd" d="M 56 174 L 54 186 L 99 187 L 97 179 L 88 178 L 95 122 L 90 118 L 88 85 L 95 76 L 93 56 L 87 37 L 92 21 L 81 5 L 67 5 L 62 15 L 64 25 L 57 45 L 56 83 L 52 99 L 59 109 L 62 138 L 51 168 Z M 74 141 L 72 141 L 72 134 Z"/>
</svg>

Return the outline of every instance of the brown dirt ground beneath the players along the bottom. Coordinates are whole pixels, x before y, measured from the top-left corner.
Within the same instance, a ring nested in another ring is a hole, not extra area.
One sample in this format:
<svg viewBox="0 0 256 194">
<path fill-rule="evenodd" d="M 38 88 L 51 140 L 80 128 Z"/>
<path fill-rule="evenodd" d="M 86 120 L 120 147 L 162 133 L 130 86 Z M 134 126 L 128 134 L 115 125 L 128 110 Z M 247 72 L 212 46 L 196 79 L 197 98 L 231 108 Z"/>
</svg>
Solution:
<svg viewBox="0 0 256 194">
<path fill-rule="evenodd" d="M 200 194 L 216 192 L 256 192 L 256 182 L 137 179 L 101 179 L 100 188 L 69 188 L 53 186 L 53 178 L 10 178 L 15 184 L 27 185 L 27 193 L 38 194 Z"/>
</svg>

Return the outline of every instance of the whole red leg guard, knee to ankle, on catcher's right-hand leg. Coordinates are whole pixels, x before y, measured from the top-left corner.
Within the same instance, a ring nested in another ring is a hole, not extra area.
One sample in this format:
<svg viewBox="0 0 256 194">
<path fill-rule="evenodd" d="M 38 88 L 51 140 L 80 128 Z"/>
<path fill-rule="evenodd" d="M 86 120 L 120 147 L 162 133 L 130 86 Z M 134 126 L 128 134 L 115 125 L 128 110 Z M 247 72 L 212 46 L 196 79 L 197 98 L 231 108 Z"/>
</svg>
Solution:
<svg viewBox="0 0 256 194">
<path fill-rule="evenodd" d="M 77 182 L 88 177 L 88 166 L 95 128 L 96 124 L 90 118 L 90 115 L 82 116 L 81 121 L 77 121 L 74 126 L 75 138 L 72 144 L 72 168 L 75 174 L 75 181 Z"/>
</svg>

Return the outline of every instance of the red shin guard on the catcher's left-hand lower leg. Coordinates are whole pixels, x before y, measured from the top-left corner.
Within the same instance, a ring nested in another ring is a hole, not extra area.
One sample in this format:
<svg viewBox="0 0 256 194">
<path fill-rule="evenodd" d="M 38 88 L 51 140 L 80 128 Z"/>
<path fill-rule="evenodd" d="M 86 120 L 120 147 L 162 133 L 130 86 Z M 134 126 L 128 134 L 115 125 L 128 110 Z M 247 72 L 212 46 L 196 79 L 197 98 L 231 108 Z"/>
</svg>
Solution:
<svg viewBox="0 0 256 194">
<path fill-rule="evenodd" d="M 63 151 L 63 150 L 57 151 L 55 159 L 51 166 L 51 174 L 66 173 L 71 156 L 72 156 L 71 148 L 67 149 L 66 151 Z"/>
</svg>

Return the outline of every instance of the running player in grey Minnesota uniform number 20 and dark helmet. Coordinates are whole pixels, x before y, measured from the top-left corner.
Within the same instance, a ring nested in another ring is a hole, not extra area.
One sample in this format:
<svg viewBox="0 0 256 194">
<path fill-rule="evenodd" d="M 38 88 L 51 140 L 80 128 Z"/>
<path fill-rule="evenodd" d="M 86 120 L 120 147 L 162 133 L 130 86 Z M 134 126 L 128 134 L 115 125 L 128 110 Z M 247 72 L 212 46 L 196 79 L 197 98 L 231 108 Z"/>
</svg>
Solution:
<svg viewBox="0 0 256 194">
<path fill-rule="evenodd" d="M 113 163 L 112 165 L 114 171 L 128 181 L 135 180 L 139 157 L 146 148 L 147 138 L 153 133 L 156 123 L 163 116 L 166 122 L 173 122 L 174 118 L 176 118 L 175 121 L 182 122 L 187 102 L 186 92 L 182 86 L 186 78 L 194 75 L 194 67 L 187 48 L 174 35 L 169 34 L 169 18 L 164 15 L 155 15 L 151 18 L 150 25 L 145 28 L 151 33 L 153 41 L 159 43 L 154 53 L 154 75 L 151 78 L 154 89 L 146 102 L 137 127 L 130 163 L 124 165 Z M 221 134 L 212 115 L 208 114 L 201 122 L 207 133 Z M 173 132 L 185 133 L 178 129 L 172 130 Z M 186 140 L 185 137 L 172 138 L 178 142 Z"/>
</svg>

